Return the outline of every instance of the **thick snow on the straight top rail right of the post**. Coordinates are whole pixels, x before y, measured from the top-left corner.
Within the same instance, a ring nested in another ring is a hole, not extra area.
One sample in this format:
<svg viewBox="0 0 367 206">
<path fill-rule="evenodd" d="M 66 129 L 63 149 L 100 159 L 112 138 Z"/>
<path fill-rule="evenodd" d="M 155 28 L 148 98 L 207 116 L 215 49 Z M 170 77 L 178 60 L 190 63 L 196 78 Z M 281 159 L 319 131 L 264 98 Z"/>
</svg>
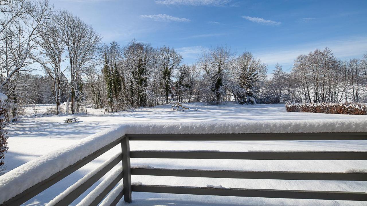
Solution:
<svg viewBox="0 0 367 206">
<path fill-rule="evenodd" d="M 226 122 L 157 122 L 122 125 L 127 134 L 159 133 L 306 133 L 306 132 L 367 132 L 367 121 L 362 119 L 319 120 L 264 120 Z"/>
</svg>

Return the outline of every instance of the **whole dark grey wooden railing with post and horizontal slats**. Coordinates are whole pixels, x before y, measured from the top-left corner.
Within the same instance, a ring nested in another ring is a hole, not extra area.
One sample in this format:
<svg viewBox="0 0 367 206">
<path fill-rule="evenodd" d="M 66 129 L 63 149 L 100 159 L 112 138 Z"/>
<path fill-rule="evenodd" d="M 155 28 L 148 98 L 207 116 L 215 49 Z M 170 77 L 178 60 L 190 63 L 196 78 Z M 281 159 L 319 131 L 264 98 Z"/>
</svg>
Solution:
<svg viewBox="0 0 367 206">
<path fill-rule="evenodd" d="M 304 191 L 304 190 L 268 190 L 244 188 L 208 188 L 183 187 L 167 185 L 131 185 L 131 175 L 177 176 L 177 177 L 212 177 L 233 179 L 279 179 L 279 180 L 345 180 L 367 181 L 367 173 L 344 172 L 281 172 L 281 171 L 238 171 L 238 170 L 197 170 L 197 169 L 144 169 L 131 168 L 130 158 L 175 158 L 175 159 L 266 159 L 266 160 L 367 160 L 367 152 L 353 151 L 250 151 L 250 152 L 219 152 L 219 151 L 130 151 L 129 142 L 135 140 L 172 140 L 172 141 L 247 141 L 247 140 L 367 140 L 366 132 L 359 133 L 257 133 L 257 134 L 134 134 L 124 135 L 107 146 L 92 153 L 88 157 L 70 165 L 68 168 L 53 174 L 14 196 L 2 205 L 21 205 L 33 198 L 59 180 L 75 172 L 88 162 L 97 158 L 112 147 L 121 143 L 121 155 L 106 162 L 102 169 L 75 187 L 62 199 L 54 200 L 52 205 L 69 205 L 83 192 L 96 183 L 101 177 L 122 161 L 122 173 L 91 200 L 90 205 L 98 205 L 102 199 L 123 179 L 123 190 L 116 196 L 111 205 L 124 197 L 132 202 L 132 192 L 155 192 L 194 195 L 246 196 L 266 198 L 299 198 L 367 201 L 366 192 L 341 191 Z"/>
</svg>

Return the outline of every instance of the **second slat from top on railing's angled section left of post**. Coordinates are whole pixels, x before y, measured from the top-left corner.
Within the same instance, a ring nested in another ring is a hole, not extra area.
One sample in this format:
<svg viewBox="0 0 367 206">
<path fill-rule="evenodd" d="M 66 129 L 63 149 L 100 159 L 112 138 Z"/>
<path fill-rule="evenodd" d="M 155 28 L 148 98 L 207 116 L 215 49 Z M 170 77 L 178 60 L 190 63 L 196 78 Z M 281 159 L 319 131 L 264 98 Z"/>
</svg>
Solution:
<svg viewBox="0 0 367 206">
<path fill-rule="evenodd" d="M 108 173 L 117 163 L 121 162 L 122 156 L 119 155 L 115 159 L 113 159 L 108 165 L 106 165 L 104 168 L 99 170 L 99 172 L 95 173 L 90 179 L 88 179 L 83 184 L 79 185 L 79 187 L 75 188 L 72 192 L 70 192 L 68 195 L 66 195 L 61 201 L 54 204 L 54 206 L 64 206 L 69 205 L 73 201 L 76 200 L 83 192 L 88 190 L 94 183 L 96 183 L 103 175 Z"/>
</svg>

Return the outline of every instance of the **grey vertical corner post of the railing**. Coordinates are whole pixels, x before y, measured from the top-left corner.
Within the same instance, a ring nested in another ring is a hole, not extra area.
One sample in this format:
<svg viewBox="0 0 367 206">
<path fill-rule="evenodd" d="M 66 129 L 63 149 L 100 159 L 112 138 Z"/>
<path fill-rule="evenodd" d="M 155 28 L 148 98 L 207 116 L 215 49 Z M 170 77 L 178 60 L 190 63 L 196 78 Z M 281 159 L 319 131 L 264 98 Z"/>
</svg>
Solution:
<svg viewBox="0 0 367 206">
<path fill-rule="evenodd" d="M 122 149 L 122 170 L 124 183 L 124 200 L 125 202 L 132 202 L 131 194 L 131 168 L 130 168 L 130 146 L 129 137 L 125 136 L 121 140 Z"/>
</svg>

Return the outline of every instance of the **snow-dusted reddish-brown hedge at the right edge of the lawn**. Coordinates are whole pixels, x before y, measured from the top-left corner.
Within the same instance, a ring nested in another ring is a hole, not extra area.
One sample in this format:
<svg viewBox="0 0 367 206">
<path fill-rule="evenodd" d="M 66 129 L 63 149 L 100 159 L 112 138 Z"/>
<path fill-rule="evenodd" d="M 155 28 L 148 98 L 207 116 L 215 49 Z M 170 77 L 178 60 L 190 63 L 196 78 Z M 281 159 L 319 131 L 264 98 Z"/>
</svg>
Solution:
<svg viewBox="0 0 367 206">
<path fill-rule="evenodd" d="M 312 112 L 326 114 L 367 114 L 367 105 L 357 103 L 305 103 L 286 104 L 290 112 Z"/>
</svg>

